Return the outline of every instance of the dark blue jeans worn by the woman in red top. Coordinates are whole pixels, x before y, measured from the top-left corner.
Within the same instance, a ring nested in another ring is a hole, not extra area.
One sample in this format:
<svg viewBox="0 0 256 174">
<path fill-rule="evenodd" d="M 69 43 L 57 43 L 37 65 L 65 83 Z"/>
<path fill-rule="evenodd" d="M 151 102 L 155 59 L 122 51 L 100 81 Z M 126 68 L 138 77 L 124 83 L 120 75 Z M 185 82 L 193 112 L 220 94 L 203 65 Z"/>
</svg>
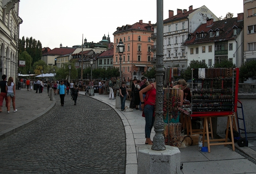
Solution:
<svg viewBox="0 0 256 174">
<path fill-rule="evenodd" d="M 153 115 L 155 111 L 154 105 L 146 105 L 144 106 L 143 112 L 145 114 L 145 138 L 150 138 L 151 130 L 154 126 L 155 117 Z"/>
</svg>

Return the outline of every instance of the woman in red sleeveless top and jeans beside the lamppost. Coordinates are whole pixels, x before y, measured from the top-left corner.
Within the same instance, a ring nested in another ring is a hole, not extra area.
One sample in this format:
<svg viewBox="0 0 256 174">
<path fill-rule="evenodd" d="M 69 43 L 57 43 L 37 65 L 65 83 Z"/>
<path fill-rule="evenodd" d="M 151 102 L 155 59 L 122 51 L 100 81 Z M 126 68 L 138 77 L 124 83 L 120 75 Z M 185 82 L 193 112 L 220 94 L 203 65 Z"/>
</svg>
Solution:
<svg viewBox="0 0 256 174">
<path fill-rule="evenodd" d="M 146 93 L 146 97 L 143 100 L 143 93 Z M 150 139 L 150 133 L 154 125 L 155 121 L 155 99 L 156 99 L 156 83 L 151 83 L 151 85 L 143 88 L 139 92 L 140 101 L 141 101 L 141 109 L 145 114 L 145 144 L 153 144 Z"/>
</svg>

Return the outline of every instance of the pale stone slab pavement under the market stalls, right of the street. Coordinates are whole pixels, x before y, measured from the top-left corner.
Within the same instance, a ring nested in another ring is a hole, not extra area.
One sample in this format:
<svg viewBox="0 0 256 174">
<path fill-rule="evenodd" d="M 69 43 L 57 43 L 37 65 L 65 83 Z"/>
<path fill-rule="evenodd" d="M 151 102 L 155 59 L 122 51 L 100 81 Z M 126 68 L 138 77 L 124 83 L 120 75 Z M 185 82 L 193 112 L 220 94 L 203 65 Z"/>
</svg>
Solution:
<svg viewBox="0 0 256 174">
<path fill-rule="evenodd" d="M 83 93 L 84 92 L 80 92 Z M 126 130 L 126 174 L 137 174 L 138 169 L 138 147 L 145 143 L 145 118 L 142 117 L 142 111 L 135 110 L 133 112 L 124 112 L 115 108 L 116 100 L 109 100 L 108 95 L 99 95 L 91 98 L 100 100 L 110 105 L 122 118 Z M 129 107 L 129 101 L 126 100 L 126 106 Z M 154 137 L 154 129 L 151 132 L 151 139 Z M 207 143 L 206 145 L 207 146 Z M 236 147 L 239 146 L 236 144 Z M 243 151 L 250 150 L 250 147 L 240 147 Z M 198 151 L 197 146 L 188 146 L 181 151 L 181 163 L 183 174 L 240 174 L 240 173 L 256 173 L 256 152 L 249 151 L 245 154 L 240 150 L 232 151 L 228 146 L 211 146 L 211 153 Z M 249 155 L 249 156 L 248 156 Z"/>
</svg>

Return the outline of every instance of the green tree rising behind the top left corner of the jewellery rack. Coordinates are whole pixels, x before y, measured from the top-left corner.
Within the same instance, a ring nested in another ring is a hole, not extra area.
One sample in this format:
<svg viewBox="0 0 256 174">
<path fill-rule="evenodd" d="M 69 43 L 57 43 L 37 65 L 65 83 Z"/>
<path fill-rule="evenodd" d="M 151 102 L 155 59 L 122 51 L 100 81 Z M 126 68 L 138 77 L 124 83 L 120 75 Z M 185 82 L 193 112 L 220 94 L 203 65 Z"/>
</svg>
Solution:
<svg viewBox="0 0 256 174">
<path fill-rule="evenodd" d="M 186 81 L 192 79 L 192 68 L 208 68 L 208 66 L 202 61 L 192 60 L 188 65 L 187 69 L 184 71 L 184 73 L 181 74 L 180 77 L 185 79 Z"/>
</svg>

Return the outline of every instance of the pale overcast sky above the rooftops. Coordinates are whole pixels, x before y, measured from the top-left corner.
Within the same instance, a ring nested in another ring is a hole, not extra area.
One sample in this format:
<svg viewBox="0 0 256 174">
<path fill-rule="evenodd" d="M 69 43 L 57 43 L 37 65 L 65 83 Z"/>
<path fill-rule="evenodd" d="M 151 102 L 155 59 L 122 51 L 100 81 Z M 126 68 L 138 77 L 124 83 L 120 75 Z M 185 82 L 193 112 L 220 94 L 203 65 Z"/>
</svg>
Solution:
<svg viewBox="0 0 256 174">
<path fill-rule="evenodd" d="M 215 16 L 223 18 L 231 12 L 234 17 L 243 12 L 243 0 L 164 0 L 164 19 L 169 10 L 193 9 L 205 5 Z M 117 27 L 132 25 L 139 20 L 156 23 L 156 0 L 20 0 L 20 39 L 33 37 L 50 49 L 99 42 Z"/>
</svg>

